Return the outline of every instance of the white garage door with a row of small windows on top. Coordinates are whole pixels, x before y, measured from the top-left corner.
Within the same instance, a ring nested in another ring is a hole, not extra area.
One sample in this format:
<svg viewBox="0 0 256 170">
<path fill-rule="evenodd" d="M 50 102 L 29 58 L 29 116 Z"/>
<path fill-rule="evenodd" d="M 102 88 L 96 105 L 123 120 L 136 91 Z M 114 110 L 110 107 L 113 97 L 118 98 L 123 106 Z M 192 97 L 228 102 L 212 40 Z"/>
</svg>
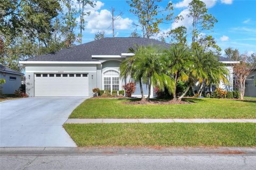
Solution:
<svg viewBox="0 0 256 170">
<path fill-rule="evenodd" d="M 35 74 L 35 96 L 89 96 L 88 74 Z"/>
</svg>

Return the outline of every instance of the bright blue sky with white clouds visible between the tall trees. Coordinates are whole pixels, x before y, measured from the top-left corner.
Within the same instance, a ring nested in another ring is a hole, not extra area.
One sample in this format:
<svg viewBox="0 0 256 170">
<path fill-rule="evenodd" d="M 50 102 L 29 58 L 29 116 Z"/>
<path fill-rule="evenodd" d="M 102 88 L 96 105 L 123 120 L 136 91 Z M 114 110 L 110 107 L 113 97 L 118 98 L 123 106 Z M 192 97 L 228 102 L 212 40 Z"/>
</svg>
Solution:
<svg viewBox="0 0 256 170">
<path fill-rule="evenodd" d="M 170 30 L 184 25 L 191 31 L 191 19 L 187 17 L 187 5 L 191 0 L 171 1 L 174 5 L 174 16 L 183 14 L 185 18 L 178 23 L 161 24 L 161 31 Z M 212 32 L 205 32 L 212 35 L 217 44 L 224 50 L 227 47 L 238 48 L 241 53 L 256 52 L 256 0 L 203 0 L 209 13 L 212 14 L 218 23 L 215 24 Z M 169 1 L 159 3 L 165 7 Z M 129 12 L 130 7 L 126 1 L 98 1 L 95 8 L 89 8 L 91 15 L 87 16 L 86 28 L 83 31 L 83 43 L 92 41 L 95 32 L 104 30 L 106 37 L 111 37 L 111 14 L 110 8 L 123 12 L 122 18 L 115 22 L 116 37 L 129 37 L 135 29 L 133 22 L 137 18 Z M 139 28 L 138 28 L 139 32 Z M 190 35 L 188 35 L 190 41 Z M 167 40 L 168 41 L 168 40 Z"/>
</svg>

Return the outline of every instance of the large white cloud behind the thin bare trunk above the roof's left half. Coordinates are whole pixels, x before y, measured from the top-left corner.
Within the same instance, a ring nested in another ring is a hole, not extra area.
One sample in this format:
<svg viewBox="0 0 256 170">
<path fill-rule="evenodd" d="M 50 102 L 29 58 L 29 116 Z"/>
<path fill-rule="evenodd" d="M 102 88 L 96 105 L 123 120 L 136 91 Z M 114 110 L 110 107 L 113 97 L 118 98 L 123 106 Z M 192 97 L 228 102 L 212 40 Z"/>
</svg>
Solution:
<svg viewBox="0 0 256 170">
<path fill-rule="evenodd" d="M 85 29 L 87 29 L 90 33 L 96 33 L 98 31 L 105 31 L 107 34 L 110 34 L 111 28 L 111 12 L 103 9 L 100 10 L 104 5 L 102 2 L 97 1 L 95 3 L 95 7 L 87 6 L 86 11 L 90 11 L 89 16 L 85 16 L 85 21 L 87 22 L 85 25 Z M 79 20 L 79 19 L 78 19 Z M 120 17 L 115 21 L 115 32 L 118 33 L 118 30 L 126 30 L 132 27 L 132 20 L 129 18 Z"/>
</svg>

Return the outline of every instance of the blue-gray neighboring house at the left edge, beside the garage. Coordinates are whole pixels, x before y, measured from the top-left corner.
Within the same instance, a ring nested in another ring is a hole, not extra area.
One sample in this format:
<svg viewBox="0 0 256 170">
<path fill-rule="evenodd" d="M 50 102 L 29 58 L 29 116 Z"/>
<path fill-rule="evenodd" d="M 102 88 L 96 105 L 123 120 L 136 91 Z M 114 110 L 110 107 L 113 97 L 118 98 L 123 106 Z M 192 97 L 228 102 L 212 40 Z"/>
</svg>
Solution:
<svg viewBox="0 0 256 170">
<path fill-rule="evenodd" d="M 1 84 L 3 94 L 14 94 L 21 85 L 21 76 L 24 75 L 18 71 L 12 70 L 0 64 L 0 79 L 5 79 L 5 83 Z"/>
</svg>

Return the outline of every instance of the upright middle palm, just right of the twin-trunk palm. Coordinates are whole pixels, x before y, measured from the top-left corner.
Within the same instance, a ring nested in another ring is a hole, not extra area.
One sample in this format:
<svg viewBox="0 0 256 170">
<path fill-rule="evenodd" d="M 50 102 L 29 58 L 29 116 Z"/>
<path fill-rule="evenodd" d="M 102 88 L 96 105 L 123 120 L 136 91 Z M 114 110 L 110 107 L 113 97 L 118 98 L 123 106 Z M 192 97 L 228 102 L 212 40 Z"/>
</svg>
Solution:
<svg viewBox="0 0 256 170">
<path fill-rule="evenodd" d="M 178 81 L 188 81 L 193 62 L 188 47 L 175 44 L 164 50 L 165 62 L 169 67 L 169 75 L 174 83 L 173 100 L 178 100 L 176 89 Z M 180 98 L 179 98 L 180 99 Z"/>
</svg>

